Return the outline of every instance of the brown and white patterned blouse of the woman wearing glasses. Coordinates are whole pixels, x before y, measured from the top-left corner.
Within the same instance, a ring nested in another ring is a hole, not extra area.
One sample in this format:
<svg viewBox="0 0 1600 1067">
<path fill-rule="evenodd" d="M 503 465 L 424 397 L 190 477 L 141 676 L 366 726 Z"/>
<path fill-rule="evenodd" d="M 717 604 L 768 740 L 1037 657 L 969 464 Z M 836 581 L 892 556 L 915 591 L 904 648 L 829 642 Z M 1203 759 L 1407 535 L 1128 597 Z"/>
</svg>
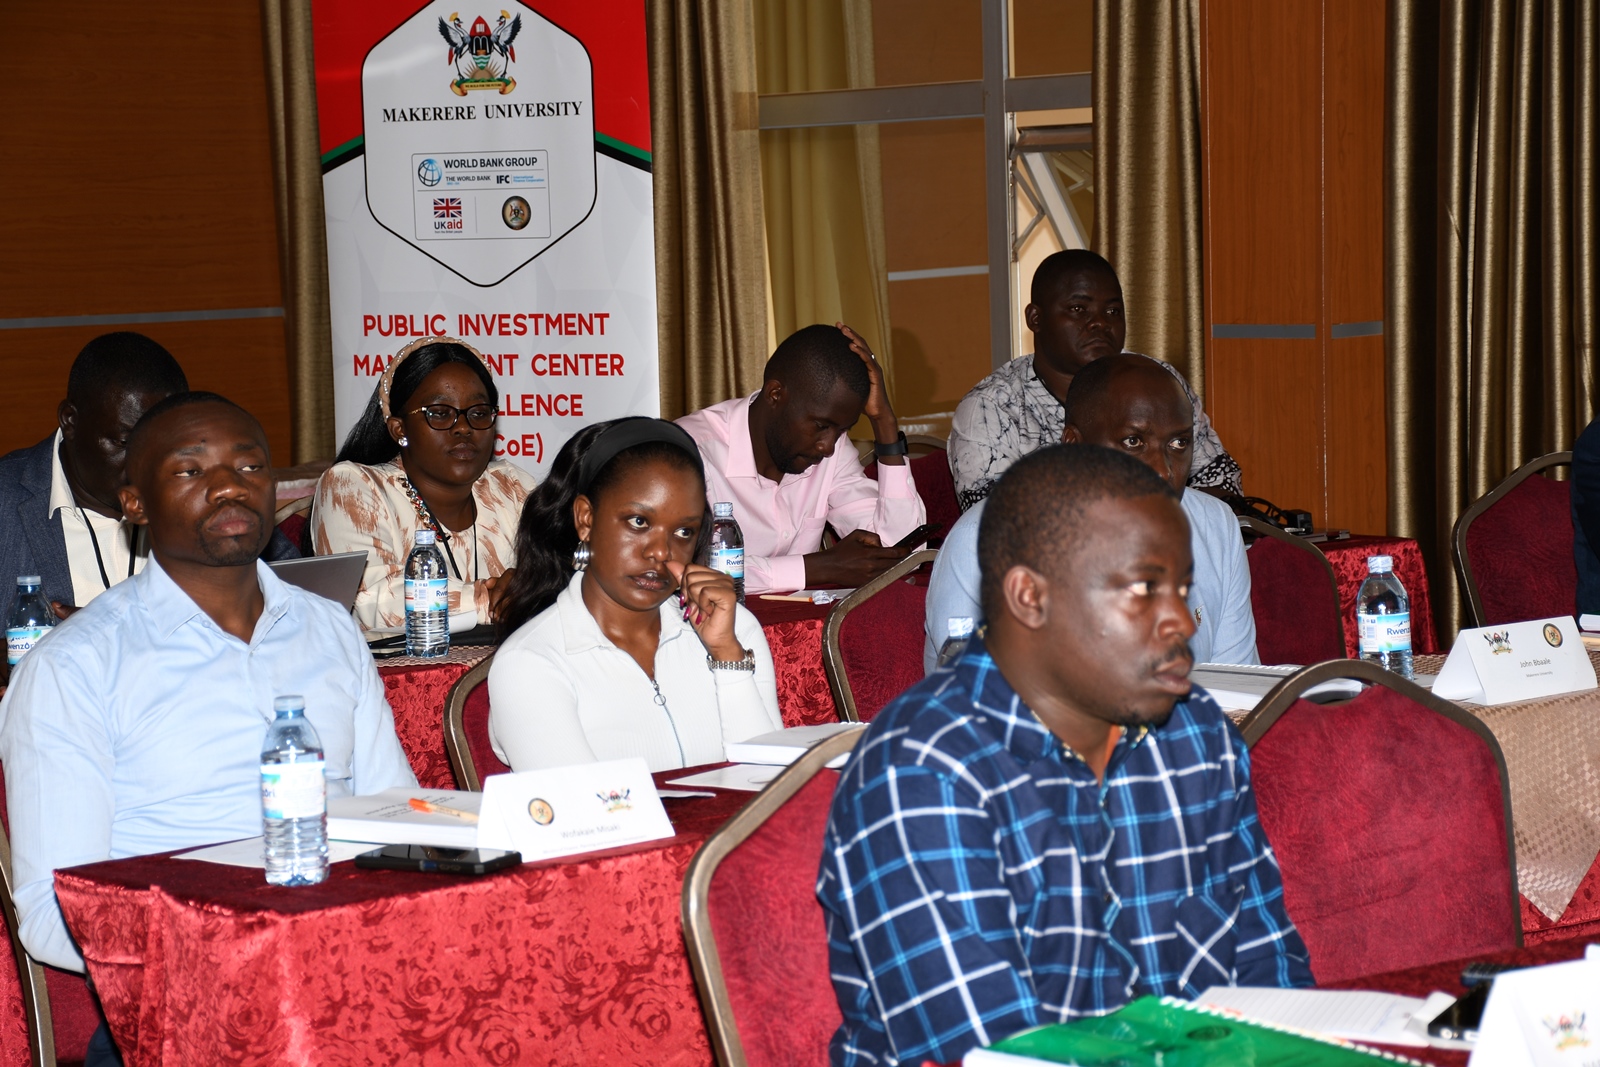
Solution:
<svg viewBox="0 0 1600 1067">
<path fill-rule="evenodd" d="M 469 530 L 438 539 L 450 571 L 450 614 L 477 613 L 490 622 L 485 579 L 517 565 L 517 523 L 538 478 L 504 459 L 491 459 L 472 486 L 478 518 Z M 341 462 L 317 482 L 310 512 L 317 555 L 366 549 L 366 574 L 355 595 L 355 619 L 368 630 L 405 625 L 405 558 L 422 528 L 406 494 L 400 459 L 368 467 Z"/>
</svg>

